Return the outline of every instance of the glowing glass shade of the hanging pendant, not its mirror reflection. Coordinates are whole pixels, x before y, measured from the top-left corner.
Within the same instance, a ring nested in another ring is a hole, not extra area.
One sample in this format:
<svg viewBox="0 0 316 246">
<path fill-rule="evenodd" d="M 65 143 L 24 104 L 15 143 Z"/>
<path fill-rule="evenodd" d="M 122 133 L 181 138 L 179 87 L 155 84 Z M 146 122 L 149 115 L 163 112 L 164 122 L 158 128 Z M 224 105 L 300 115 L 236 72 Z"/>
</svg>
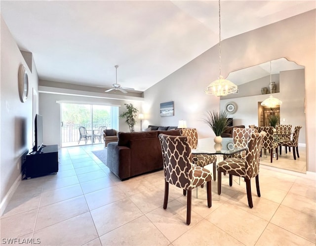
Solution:
<svg viewBox="0 0 316 246">
<path fill-rule="evenodd" d="M 205 94 L 215 96 L 226 96 L 237 92 L 237 85 L 229 80 L 225 80 L 223 76 L 219 76 L 218 80 L 211 82 L 204 90 Z"/>
</svg>

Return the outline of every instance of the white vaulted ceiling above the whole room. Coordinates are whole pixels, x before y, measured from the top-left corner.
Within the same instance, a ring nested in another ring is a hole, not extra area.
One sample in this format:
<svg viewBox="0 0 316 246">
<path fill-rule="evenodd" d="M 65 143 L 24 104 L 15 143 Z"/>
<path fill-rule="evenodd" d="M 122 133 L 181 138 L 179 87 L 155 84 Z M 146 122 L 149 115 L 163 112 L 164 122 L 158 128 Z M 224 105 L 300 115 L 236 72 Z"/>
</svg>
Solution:
<svg viewBox="0 0 316 246">
<path fill-rule="evenodd" d="M 1 0 L 40 79 L 144 91 L 218 43 L 218 1 Z M 314 0 L 221 1 L 222 40 L 309 11 Z"/>
</svg>

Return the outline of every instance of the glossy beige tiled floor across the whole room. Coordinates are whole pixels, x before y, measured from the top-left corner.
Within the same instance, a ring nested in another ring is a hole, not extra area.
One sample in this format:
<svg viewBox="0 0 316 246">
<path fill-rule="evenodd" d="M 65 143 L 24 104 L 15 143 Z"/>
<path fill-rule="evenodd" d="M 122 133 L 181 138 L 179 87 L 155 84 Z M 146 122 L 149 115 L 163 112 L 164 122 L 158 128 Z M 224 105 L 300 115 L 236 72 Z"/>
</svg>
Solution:
<svg viewBox="0 0 316 246">
<path fill-rule="evenodd" d="M 91 153 L 102 148 L 63 148 L 56 175 L 23 180 L 0 218 L 1 243 L 19 238 L 42 246 L 316 244 L 315 179 L 262 165 L 261 198 L 252 181 L 252 209 L 244 182 L 229 187 L 223 179 L 211 208 L 193 197 L 188 226 L 182 190 L 170 186 L 168 207 L 162 208 L 162 171 L 121 182 Z M 215 182 L 212 190 L 215 198 Z"/>
</svg>

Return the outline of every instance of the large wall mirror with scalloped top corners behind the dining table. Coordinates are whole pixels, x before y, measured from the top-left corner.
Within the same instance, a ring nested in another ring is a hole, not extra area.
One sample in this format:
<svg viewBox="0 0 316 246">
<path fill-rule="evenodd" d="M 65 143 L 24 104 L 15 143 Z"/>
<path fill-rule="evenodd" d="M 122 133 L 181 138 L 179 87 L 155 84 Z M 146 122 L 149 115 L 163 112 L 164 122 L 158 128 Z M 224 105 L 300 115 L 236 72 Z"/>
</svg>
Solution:
<svg viewBox="0 0 316 246">
<path fill-rule="evenodd" d="M 305 67 L 285 58 L 268 61 L 253 67 L 234 71 L 227 77 L 238 85 L 236 94 L 221 97 L 220 108 L 235 103 L 237 111 L 229 114 L 234 125 L 261 125 L 260 103 L 270 96 L 270 62 L 271 81 L 276 83 L 272 95 L 282 101 L 279 107 L 280 124 L 291 124 L 292 132 L 296 125 L 301 125 L 299 134 L 300 158 L 293 158 L 293 152 L 282 147 L 282 154 L 270 162 L 269 151 L 262 155 L 260 164 L 306 173 L 306 127 L 305 127 Z M 265 94 L 265 92 L 267 94 Z"/>
</svg>

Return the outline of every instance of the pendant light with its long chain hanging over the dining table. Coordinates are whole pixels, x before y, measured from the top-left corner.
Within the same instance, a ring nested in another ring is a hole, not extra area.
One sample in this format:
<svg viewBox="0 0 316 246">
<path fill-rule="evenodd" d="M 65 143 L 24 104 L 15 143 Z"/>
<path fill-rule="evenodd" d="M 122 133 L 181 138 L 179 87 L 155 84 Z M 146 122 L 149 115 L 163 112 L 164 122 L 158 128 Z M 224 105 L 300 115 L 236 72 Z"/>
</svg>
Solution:
<svg viewBox="0 0 316 246">
<path fill-rule="evenodd" d="M 219 5 L 219 77 L 218 80 L 211 82 L 204 90 L 205 94 L 215 96 L 226 96 L 231 93 L 237 92 L 237 85 L 229 80 L 225 80 L 221 75 L 221 0 L 218 1 Z"/>
</svg>

